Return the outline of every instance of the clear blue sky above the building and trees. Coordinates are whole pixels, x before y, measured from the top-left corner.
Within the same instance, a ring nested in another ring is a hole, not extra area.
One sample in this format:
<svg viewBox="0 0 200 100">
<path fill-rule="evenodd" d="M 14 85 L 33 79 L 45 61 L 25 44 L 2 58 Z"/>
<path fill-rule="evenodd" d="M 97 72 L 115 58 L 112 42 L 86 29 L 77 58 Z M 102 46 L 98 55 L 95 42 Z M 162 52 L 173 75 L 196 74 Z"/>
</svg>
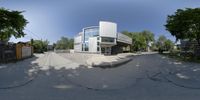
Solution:
<svg viewBox="0 0 200 100">
<path fill-rule="evenodd" d="M 28 20 L 26 36 L 11 41 L 48 39 L 56 42 L 61 36 L 73 38 L 83 27 L 113 21 L 118 32 L 150 30 L 156 38 L 174 37 L 163 26 L 167 15 L 176 9 L 200 7 L 199 0 L 0 0 L 0 7 L 25 11 Z"/>
</svg>

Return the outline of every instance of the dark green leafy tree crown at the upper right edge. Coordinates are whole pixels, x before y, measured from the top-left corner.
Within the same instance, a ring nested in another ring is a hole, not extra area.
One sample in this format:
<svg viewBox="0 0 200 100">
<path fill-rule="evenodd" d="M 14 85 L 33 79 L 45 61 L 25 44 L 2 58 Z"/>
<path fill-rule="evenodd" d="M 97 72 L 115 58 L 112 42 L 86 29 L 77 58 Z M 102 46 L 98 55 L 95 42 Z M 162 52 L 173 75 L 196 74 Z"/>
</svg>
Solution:
<svg viewBox="0 0 200 100">
<path fill-rule="evenodd" d="M 178 9 L 165 25 L 176 39 L 196 40 L 200 45 L 200 8 Z"/>
</svg>

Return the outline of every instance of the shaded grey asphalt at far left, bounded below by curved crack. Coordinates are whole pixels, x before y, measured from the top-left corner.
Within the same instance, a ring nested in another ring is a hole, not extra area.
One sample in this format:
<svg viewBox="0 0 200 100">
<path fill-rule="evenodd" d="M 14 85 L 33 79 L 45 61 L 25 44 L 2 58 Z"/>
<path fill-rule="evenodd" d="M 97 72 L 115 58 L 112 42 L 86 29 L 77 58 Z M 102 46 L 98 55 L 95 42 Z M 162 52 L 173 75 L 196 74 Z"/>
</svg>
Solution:
<svg viewBox="0 0 200 100">
<path fill-rule="evenodd" d="M 15 63 L 0 65 L 0 89 L 9 89 L 28 84 L 37 76 L 37 64 L 32 61 L 37 57 L 33 56 Z"/>
</svg>

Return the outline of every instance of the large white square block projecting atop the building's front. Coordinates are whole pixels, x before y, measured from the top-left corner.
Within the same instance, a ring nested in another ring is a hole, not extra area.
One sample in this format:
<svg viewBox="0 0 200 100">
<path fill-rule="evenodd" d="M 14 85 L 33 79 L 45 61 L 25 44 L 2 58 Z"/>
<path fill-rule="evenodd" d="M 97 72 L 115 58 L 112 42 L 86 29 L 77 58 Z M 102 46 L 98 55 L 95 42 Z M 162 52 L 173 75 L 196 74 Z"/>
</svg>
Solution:
<svg viewBox="0 0 200 100">
<path fill-rule="evenodd" d="M 117 37 L 117 24 L 113 22 L 99 22 L 99 36 L 101 37 Z"/>
</svg>

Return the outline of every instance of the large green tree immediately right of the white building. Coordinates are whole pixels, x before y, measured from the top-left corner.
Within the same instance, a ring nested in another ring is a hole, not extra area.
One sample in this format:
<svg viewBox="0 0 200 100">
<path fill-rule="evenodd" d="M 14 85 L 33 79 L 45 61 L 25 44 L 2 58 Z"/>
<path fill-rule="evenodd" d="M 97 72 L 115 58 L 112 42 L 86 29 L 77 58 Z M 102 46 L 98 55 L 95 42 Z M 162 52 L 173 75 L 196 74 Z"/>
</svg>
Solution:
<svg viewBox="0 0 200 100">
<path fill-rule="evenodd" d="M 154 41 L 154 34 L 147 30 L 142 32 L 123 31 L 122 33 L 132 38 L 132 51 L 146 51 L 148 44 Z"/>
</svg>

